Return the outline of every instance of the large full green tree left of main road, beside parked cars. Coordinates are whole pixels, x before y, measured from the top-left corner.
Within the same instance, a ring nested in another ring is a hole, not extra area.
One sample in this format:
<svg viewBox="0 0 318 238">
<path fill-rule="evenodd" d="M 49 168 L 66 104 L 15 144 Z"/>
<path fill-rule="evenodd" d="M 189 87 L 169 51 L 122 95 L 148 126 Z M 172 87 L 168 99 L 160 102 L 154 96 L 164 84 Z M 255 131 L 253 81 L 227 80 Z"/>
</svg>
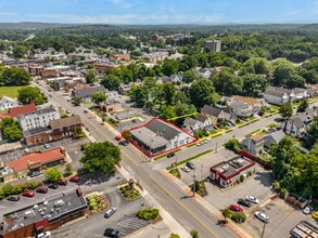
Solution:
<svg viewBox="0 0 318 238">
<path fill-rule="evenodd" d="M 85 146 L 80 162 L 87 172 L 113 172 L 120 162 L 120 150 L 110 142 L 90 143 Z"/>
</svg>

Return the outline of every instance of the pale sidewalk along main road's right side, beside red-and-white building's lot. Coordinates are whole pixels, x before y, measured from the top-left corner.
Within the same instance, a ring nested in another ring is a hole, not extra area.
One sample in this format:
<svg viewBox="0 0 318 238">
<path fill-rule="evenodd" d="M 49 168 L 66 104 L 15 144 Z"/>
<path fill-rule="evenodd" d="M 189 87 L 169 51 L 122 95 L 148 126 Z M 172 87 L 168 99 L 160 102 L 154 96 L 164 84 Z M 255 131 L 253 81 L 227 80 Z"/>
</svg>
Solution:
<svg viewBox="0 0 318 238">
<path fill-rule="evenodd" d="M 189 196 L 192 196 L 192 191 L 189 186 L 187 186 L 182 181 L 175 177 L 173 174 L 168 173 L 166 170 L 163 170 L 162 173 L 167 176 L 170 181 L 176 183 L 182 190 L 185 190 Z M 206 210 L 208 210 L 213 215 L 215 215 L 218 220 L 222 221 L 224 216 L 221 212 L 214 208 L 207 200 L 205 200 L 200 195 L 196 195 L 193 199 L 198 201 L 200 204 L 202 204 Z M 242 238 L 253 238 L 250 234 L 247 234 L 244 229 L 242 229 L 240 226 L 238 226 L 234 222 L 231 220 L 228 220 L 227 226 L 233 230 L 238 236 Z"/>
</svg>

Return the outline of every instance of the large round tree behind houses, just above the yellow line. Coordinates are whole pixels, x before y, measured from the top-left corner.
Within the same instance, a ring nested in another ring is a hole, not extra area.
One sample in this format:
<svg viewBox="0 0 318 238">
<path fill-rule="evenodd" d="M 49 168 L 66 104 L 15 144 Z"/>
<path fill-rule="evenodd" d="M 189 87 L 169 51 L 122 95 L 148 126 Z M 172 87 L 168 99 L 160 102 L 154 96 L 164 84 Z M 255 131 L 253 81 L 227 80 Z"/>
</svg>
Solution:
<svg viewBox="0 0 318 238">
<path fill-rule="evenodd" d="M 213 83 L 207 79 L 200 79 L 192 83 L 189 90 L 191 103 L 201 108 L 205 104 L 212 105 L 219 101 L 219 95 L 215 92 Z"/>
</svg>

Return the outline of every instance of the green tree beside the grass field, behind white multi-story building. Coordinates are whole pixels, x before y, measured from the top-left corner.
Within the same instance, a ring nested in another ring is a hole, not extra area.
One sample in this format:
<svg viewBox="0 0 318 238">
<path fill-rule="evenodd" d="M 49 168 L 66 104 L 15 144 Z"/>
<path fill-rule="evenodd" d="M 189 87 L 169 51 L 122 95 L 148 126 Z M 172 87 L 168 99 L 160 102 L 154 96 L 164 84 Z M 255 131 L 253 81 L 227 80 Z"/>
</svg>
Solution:
<svg viewBox="0 0 318 238">
<path fill-rule="evenodd" d="M 31 101 L 34 101 L 36 105 L 41 105 L 48 102 L 48 98 L 37 87 L 25 87 L 18 90 L 17 100 L 24 105 L 29 104 Z"/>
</svg>

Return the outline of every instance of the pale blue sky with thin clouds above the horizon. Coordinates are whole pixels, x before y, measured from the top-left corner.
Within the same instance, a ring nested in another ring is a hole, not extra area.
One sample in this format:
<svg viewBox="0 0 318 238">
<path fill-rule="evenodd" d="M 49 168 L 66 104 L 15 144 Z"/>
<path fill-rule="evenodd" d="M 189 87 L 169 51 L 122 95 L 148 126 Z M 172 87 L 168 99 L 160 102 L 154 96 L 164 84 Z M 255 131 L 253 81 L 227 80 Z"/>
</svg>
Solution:
<svg viewBox="0 0 318 238">
<path fill-rule="evenodd" d="M 0 22 L 318 23 L 318 0 L 0 0 Z"/>
</svg>

